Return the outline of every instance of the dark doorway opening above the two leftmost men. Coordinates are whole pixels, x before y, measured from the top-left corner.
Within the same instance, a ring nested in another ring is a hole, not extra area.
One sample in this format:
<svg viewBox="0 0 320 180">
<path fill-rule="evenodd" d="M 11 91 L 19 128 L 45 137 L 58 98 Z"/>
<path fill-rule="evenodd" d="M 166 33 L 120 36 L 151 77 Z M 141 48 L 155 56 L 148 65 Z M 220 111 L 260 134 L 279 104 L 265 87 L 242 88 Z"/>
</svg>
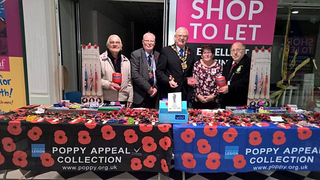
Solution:
<svg viewBox="0 0 320 180">
<path fill-rule="evenodd" d="M 163 3 L 116 0 L 79 0 L 81 44 L 97 43 L 100 53 L 106 50 L 110 34 L 122 40 L 122 53 L 142 47 L 145 32 L 155 34 L 155 50 L 162 47 Z"/>
</svg>

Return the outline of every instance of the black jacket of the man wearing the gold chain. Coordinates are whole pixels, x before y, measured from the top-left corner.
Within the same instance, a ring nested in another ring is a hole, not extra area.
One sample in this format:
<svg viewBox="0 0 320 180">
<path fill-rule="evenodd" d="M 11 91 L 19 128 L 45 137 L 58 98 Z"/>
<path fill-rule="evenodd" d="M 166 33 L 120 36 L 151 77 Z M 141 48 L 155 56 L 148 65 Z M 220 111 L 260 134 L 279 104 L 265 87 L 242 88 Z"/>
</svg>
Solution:
<svg viewBox="0 0 320 180">
<path fill-rule="evenodd" d="M 189 48 L 186 58 L 187 68 L 183 71 L 181 60 L 171 46 L 163 47 L 160 51 L 158 63 L 156 64 L 155 74 L 158 79 L 158 87 L 160 88 L 160 99 L 167 97 L 169 92 L 182 92 L 182 100 L 186 100 L 187 96 L 187 79 L 192 76 L 194 59 L 194 51 Z M 171 88 L 169 85 L 169 75 L 174 77 L 177 82 L 176 88 Z"/>
</svg>

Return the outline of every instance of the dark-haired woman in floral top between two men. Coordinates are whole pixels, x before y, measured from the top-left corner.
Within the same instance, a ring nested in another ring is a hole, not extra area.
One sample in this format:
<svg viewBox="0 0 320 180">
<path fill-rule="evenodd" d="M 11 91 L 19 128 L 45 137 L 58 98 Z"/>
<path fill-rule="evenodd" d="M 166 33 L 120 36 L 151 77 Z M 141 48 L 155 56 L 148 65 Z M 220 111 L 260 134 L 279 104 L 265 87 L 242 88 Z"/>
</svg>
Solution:
<svg viewBox="0 0 320 180">
<path fill-rule="evenodd" d="M 193 77 L 197 79 L 192 93 L 193 108 L 213 109 L 218 107 L 218 90 L 215 77 L 222 74 L 222 66 L 213 60 L 212 45 L 201 46 L 202 59 L 193 65 Z"/>
</svg>

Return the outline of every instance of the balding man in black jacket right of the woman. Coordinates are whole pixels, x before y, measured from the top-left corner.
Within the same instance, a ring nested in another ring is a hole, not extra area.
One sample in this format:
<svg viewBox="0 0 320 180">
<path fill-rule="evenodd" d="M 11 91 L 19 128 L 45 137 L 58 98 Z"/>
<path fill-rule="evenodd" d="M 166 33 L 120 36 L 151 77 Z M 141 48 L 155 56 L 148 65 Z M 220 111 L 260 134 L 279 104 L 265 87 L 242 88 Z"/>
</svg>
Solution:
<svg viewBox="0 0 320 180">
<path fill-rule="evenodd" d="M 227 85 L 219 87 L 221 108 L 247 105 L 251 57 L 241 42 L 234 42 L 230 52 L 233 60 L 227 61 L 222 70 Z"/>
</svg>

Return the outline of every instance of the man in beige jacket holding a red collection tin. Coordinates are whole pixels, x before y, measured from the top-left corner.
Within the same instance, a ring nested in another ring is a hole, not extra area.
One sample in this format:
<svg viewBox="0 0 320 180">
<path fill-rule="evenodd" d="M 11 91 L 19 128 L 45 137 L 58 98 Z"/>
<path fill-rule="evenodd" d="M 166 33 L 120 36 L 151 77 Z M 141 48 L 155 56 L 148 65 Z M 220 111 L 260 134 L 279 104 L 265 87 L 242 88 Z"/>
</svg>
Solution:
<svg viewBox="0 0 320 180">
<path fill-rule="evenodd" d="M 120 101 L 127 107 L 132 105 L 133 88 L 131 83 L 130 61 L 121 54 L 121 39 L 112 34 L 106 41 L 106 51 L 100 54 L 102 91 L 105 103 Z M 112 82 L 112 73 L 122 74 L 121 84 Z"/>
</svg>

